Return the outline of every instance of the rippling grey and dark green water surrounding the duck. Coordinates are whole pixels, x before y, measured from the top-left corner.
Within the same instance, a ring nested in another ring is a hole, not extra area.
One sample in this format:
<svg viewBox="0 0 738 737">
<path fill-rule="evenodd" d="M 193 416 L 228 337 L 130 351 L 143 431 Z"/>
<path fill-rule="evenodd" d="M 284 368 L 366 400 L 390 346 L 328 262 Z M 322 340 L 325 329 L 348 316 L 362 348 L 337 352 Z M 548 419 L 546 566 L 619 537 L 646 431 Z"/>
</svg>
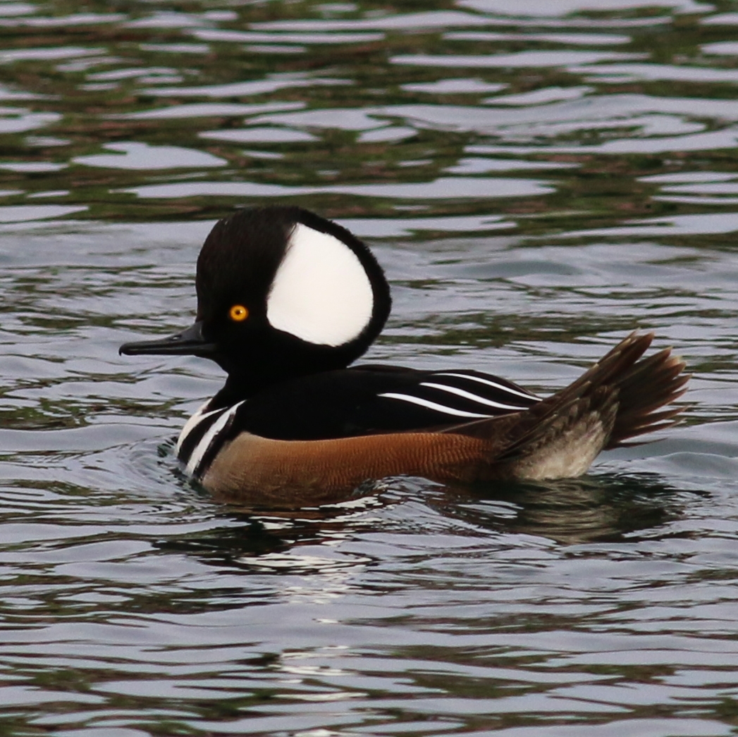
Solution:
<svg viewBox="0 0 738 737">
<path fill-rule="evenodd" d="M 0 735 L 738 730 L 738 5 L 1 2 Z M 548 391 L 635 327 L 686 423 L 581 480 L 257 516 L 176 474 L 215 218 L 311 207 L 370 359 Z"/>
</svg>

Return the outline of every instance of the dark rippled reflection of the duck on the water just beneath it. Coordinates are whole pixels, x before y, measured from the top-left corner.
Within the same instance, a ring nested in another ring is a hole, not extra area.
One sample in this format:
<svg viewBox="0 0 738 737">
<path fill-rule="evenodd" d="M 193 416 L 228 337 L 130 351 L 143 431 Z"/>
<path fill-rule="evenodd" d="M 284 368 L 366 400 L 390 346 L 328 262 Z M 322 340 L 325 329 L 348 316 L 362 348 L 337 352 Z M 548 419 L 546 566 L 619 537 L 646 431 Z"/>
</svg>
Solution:
<svg viewBox="0 0 738 737">
<path fill-rule="evenodd" d="M 700 495 L 699 491 L 692 494 Z M 295 511 L 254 511 L 227 505 L 235 523 L 162 542 L 162 550 L 196 556 L 210 565 L 252 572 L 307 575 L 362 567 L 372 560 L 341 552 L 357 532 L 387 532 L 387 511 L 427 507 L 475 530 L 551 539 L 563 545 L 658 539 L 683 516 L 688 497 L 658 474 L 603 474 L 552 482 L 495 482 L 444 486 L 425 480 L 384 480 L 357 490 L 354 499 Z M 400 514 L 402 514 L 400 512 Z M 391 514 L 390 514 L 391 517 Z M 303 547 L 312 553 L 303 553 Z M 319 546 L 319 547 L 315 547 Z M 320 547 L 322 546 L 322 547 Z M 318 555 L 325 546 L 334 553 Z M 356 571 L 354 571 L 356 573 Z"/>
</svg>

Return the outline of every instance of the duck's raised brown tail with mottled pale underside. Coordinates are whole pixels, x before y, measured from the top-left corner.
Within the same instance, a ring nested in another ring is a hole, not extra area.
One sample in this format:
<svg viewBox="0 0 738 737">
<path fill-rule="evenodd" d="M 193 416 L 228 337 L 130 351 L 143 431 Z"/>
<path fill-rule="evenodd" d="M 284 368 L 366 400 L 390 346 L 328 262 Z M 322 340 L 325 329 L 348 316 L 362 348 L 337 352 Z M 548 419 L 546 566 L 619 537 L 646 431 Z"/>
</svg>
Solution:
<svg viewBox="0 0 738 737">
<path fill-rule="evenodd" d="M 667 348 L 641 356 L 653 333 L 632 333 L 568 387 L 525 412 L 456 426 L 489 443 L 489 477 L 544 479 L 583 474 L 604 448 L 675 424 L 689 376 Z"/>
</svg>

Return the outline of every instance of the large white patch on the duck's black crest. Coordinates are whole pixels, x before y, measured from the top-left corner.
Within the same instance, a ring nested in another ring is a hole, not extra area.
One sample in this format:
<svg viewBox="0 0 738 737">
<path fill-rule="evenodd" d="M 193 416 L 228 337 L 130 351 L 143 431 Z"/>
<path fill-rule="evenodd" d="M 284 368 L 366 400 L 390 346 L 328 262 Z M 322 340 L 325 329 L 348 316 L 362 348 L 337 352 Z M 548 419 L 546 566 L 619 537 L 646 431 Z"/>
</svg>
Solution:
<svg viewBox="0 0 738 737">
<path fill-rule="evenodd" d="M 309 343 L 343 345 L 368 325 L 373 305 L 359 257 L 333 235 L 297 223 L 266 299 L 272 327 Z"/>
</svg>

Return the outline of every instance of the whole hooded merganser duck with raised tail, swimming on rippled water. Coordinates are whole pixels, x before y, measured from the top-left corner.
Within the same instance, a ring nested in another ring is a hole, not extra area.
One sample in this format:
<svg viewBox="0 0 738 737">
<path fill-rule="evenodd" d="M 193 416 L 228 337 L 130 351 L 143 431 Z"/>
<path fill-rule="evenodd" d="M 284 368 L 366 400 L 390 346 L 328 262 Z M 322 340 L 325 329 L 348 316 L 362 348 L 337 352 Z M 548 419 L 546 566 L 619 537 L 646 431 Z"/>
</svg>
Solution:
<svg viewBox="0 0 738 737">
<path fill-rule="evenodd" d="M 473 370 L 348 367 L 379 335 L 390 288 L 367 246 L 299 207 L 218 221 L 197 261 L 197 316 L 120 353 L 213 359 L 225 386 L 184 425 L 176 453 L 218 496 L 271 506 L 348 496 L 366 480 L 576 477 L 602 449 L 675 423 L 685 391 L 666 348 L 632 333 L 540 398 Z M 660 411 L 659 411 L 660 410 Z"/>
</svg>

